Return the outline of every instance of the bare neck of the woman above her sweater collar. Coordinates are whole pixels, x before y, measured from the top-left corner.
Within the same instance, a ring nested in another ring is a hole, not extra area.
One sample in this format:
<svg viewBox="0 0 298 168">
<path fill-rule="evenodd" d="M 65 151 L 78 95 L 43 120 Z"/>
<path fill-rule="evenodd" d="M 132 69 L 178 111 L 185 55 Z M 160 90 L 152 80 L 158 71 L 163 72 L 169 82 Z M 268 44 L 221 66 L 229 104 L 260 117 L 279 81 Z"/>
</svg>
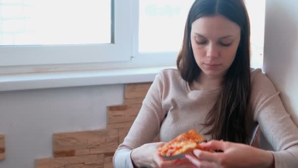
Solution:
<svg viewBox="0 0 298 168">
<path fill-rule="evenodd" d="M 190 87 L 192 90 L 210 90 L 220 87 L 223 79 L 223 76 L 210 76 L 201 72 L 199 78 L 196 79 Z"/>
</svg>

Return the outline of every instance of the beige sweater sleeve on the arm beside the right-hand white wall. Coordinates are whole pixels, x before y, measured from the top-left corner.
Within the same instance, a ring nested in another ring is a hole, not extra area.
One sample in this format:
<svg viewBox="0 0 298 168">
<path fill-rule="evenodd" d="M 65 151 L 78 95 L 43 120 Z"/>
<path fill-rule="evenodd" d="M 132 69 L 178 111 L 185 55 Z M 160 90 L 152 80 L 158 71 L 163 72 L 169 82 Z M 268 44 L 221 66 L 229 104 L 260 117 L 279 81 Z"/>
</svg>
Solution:
<svg viewBox="0 0 298 168">
<path fill-rule="evenodd" d="M 257 72 L 251 95 L 254 120 L 274 149 L 275 168 L 298 168 L 298 128 L 286 112 L 279 92 L 264 74 Z"/>
</svg>

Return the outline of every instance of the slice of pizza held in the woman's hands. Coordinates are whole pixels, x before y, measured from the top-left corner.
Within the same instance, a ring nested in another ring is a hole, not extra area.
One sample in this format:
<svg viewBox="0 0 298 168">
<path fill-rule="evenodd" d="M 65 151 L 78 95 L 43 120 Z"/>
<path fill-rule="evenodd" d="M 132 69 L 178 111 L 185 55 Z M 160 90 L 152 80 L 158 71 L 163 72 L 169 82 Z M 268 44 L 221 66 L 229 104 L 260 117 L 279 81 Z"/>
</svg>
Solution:
<svg viewBox="0 0 298 168">
<path fill-rule="evenodd" d="M 162 156 L 171 157 L 179 154 L 185 154 L 194 149 L 204 149 L 199 145 L 201 142 L 206 142 L 207 140 L 202 137 L 196 130 L 192 129 L 187 133 L 180 134 L 174 140 L 166 143 L 157 149 L 157 152 Z M 207 150 L 210 151 L 210 150 Z"/>
</svg>

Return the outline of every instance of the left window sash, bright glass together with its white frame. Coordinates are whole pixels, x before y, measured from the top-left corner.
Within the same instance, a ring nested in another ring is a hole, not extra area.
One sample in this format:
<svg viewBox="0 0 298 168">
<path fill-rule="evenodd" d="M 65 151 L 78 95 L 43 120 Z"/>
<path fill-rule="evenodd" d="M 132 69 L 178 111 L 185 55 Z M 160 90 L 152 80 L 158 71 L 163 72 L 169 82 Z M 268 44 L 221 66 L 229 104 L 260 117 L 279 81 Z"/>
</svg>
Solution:
<svg viewBox="0 0 298 168">
<path fill-rule="evenodd" d="M 130 2 L 0 0 L 0 66 L 130 60 Z"/>
</svg>

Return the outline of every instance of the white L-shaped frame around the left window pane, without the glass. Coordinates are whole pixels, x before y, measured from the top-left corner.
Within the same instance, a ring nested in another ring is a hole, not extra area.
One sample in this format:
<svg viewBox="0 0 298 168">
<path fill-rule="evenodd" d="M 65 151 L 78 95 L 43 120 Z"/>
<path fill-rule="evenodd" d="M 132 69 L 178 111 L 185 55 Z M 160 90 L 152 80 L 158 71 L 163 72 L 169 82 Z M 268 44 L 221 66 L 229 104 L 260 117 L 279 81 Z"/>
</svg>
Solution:
<svg viewBox="0 0 298 168">
<path fill-rule="evenodd" d="M 91 45 L 1 46 L 0 67 L 128 61 L 132 53 L 133 0 L 114 3 L 114 43 Z"/>
</svg>

